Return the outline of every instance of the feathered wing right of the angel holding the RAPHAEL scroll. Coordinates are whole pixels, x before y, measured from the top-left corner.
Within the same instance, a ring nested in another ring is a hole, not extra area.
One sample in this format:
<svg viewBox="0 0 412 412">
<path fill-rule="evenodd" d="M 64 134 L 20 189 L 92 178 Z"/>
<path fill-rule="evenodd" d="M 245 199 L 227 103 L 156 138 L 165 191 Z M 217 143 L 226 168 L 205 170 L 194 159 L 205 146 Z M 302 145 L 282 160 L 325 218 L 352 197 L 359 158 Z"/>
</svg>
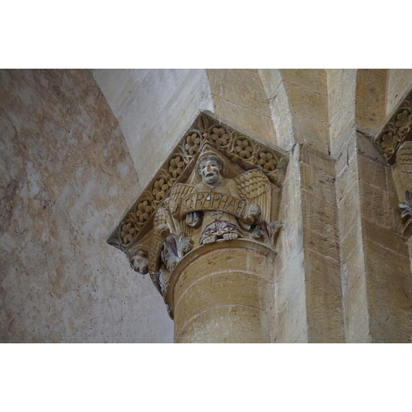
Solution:
<svg viewBox="0 0 412 412">
<path fill-rule="evenodd" d="M 271 221 L 271 183 L 267 176 L 258 169 L 244 172 L 233 179 L 238 185 L 243 200 L 258 203 L 262 209 L 262 218 Z"/>
</svg>

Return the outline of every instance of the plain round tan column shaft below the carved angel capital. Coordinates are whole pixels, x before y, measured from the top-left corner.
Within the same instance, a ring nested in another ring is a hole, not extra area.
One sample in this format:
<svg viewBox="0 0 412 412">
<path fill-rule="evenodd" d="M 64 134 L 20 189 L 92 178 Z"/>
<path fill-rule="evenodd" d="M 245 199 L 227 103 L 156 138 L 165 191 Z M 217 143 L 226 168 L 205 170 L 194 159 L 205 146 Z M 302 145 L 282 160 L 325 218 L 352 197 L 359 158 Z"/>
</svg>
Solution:
<svg viewBox="0 0 412 412">
<path fill-rule="evenodd" d="M 186 255 L 165 295 L 175 343 L 268 343 L 274 258 L 272 249 L 242 239 Z"/>
</svg>

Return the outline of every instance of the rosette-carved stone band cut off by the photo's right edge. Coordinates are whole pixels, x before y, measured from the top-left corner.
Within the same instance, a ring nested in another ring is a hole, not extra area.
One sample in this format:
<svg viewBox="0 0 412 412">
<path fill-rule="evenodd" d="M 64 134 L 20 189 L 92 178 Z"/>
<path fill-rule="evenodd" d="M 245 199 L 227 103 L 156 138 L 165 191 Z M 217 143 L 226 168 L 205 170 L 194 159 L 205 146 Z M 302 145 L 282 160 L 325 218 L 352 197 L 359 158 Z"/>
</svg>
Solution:
<svg viewBox="0 0 412 412">
<path fill-rule="evenodd" d="M 388 163 L 396 161 L 396 152 L 404 141 L 412 140 L 412 91 L 376 137 L 375 144 Z"/>
</svg>

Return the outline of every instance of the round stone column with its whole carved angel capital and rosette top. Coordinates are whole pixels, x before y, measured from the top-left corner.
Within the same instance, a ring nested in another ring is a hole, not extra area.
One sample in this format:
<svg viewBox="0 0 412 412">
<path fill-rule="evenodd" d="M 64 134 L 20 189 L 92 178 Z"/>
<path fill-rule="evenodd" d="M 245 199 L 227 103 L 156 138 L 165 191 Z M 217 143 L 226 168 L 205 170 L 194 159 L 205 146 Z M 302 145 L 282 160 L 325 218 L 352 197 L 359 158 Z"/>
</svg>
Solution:
<svg viewBox="0 0 412 412">
<path fill-rule="evenodd" d="M 132 268 L 150 274 L 176 343 L 275 340 L 287 164 L 279 150 L 201 113 L 111 234 Z"/>
</svg>

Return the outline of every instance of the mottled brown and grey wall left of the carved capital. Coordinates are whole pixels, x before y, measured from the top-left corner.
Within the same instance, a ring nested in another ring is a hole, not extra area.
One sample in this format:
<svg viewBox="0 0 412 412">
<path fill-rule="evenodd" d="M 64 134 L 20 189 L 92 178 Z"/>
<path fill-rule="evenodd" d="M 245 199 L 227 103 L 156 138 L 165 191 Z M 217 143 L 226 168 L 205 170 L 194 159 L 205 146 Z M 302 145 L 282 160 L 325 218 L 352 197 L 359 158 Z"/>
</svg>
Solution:
<svg viewBox="0 0 412 412">
<path fill-rule="evenodd" d="M 0 71 L 0 341 L 171 342 L 106 238 L 139 181 L 89 71 Z"/>
</svg>

